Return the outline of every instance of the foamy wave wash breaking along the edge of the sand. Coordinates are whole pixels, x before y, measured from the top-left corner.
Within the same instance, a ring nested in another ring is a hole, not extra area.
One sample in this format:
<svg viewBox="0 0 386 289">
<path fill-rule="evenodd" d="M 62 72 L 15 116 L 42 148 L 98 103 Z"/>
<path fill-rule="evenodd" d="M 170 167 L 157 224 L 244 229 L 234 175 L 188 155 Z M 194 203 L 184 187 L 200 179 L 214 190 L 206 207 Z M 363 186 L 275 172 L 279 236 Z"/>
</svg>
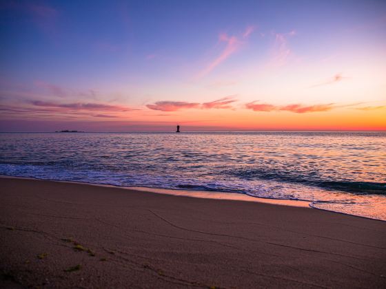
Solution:
<svg viewBox="0 0 386 289">
<path fill-rule="evenodd" d="M 229 171 L 228 171 L 229 173 Z M 235 173 L 235 172 L 233 172 Z M 347 213 L 361 217 L 386 220 L 386 184 L 378 182 L 310 181 L 296 179 L 294 175 L 278 178 L 280 174 L 270 174 L 270 180 L 259 180 L 256 170 L 238 171 L 240 178 L 225 176 L 223 180 L 201 178 L 172 178 L 170 175 L 116 173 L 115 171 L 74 170 L 34 164 L 1 164 L 0 175 L 10 175 L 41 180 L 61 180 L 86 182 L 91 184 L 110 184 L 113 186 L 143 186 L 159 189 L 183 189 L 188 191 L 217 191 L 242 193 L 252 197 L 281 200 L 305 200 L 313 208 Z M 247 178 L 244 180 L 243 178 Z M 292 184 L 291 184 L 292 183 Z M 325 188 L 325 191 L 309 186 Z M 337 191 L 336 194 L 332 190 Z M 345 192 L 354 192 L 349 195 Z"/>
</svg>

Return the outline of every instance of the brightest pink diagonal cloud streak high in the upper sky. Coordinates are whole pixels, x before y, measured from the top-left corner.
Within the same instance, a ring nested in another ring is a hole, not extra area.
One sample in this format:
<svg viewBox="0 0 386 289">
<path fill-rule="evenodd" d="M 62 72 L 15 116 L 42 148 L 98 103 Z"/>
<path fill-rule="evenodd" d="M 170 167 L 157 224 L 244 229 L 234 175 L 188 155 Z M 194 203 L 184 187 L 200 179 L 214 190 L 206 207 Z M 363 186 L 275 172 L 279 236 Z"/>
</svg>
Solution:
<svg viewBox="0 0 386 289">
<path fill-rule="evenodd" d="M 248 26 L 243 34 L 241 36 L 229 36 L 226 33 L 219 34 L 219 41 L 225 43 L 224 49 L 221 51 L 219 56 L 214 58 L 214 60 L 210 61 L 210 63 L 207 64 L 205 69 L 199 73 L 199 78 L 209 74 L 212 72 L 212 70 L 220 65 L 223 61 L 225 61 L 228 57 L 230 57 L 232 54 L 237 52 L 241 46 L 245 43 L 245 41 L 248 39 L 250 34 L 254 31 L 253 26 Z"/>
</svg>

